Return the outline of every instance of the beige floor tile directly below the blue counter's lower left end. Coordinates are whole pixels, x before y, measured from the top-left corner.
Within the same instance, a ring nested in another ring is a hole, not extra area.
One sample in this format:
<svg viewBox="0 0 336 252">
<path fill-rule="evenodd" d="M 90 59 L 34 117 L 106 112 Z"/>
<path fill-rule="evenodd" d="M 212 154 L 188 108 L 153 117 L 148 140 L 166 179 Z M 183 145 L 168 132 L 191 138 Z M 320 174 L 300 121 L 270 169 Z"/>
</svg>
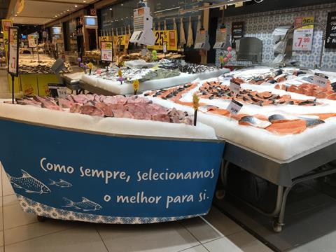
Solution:
<svg viewBox="0 0 336 252">
<path fill-rule="evenodd" d="M 17 228 L 5 230 L 5 244 L 14 244 L 19 241 L 49 235 L 55 232 L 69 230 L 78 226 L 76 222 L 46 220 L 43 223 L 31 223 Z M 93 227 L 92 227 L 93 228 Z"/>
</svg>

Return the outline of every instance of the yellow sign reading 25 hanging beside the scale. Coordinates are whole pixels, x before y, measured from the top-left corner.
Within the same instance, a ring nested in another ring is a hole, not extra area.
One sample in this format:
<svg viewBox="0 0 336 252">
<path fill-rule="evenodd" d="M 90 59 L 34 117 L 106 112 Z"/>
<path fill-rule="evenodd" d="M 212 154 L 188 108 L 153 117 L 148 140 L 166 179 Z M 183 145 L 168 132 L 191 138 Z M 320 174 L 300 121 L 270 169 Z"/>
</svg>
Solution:
<svg viewBox="0 0 336 252">
<path fill-rule="evenodd" d="M 163 50 L 165 43 L 167 44 L 167 51 L 177 51 L 177 31 L 163 30 L 153 31 L 155 36 L 155 43 L 153 46 L 148 46 L 148 49 Z"/>
</svg>

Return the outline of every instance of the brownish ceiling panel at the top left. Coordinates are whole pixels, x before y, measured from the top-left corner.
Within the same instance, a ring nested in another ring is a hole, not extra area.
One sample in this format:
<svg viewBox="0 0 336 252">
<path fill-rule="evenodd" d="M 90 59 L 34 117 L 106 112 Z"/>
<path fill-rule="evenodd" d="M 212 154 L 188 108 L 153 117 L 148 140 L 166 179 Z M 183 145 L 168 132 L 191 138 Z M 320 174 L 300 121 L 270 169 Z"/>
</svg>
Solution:
<svg viewBox="0 0 336 252">
<path fill-rule="evenodd" d="M 44 25 L 93 2 L 94 0 L 26 0 L 22 12 L 12 18 L 15 24 Z"/>
</svg>

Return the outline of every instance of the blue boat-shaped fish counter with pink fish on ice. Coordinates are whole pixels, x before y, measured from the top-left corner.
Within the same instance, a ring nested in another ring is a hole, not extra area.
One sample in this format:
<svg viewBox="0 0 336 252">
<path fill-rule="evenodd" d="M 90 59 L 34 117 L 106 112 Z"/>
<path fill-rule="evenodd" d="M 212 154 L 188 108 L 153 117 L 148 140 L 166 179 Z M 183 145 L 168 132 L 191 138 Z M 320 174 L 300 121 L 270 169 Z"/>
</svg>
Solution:
<svg viewBox="0 0 336 252">
<path fill-rule="evenodd" d="M 1 164 L 22 209 L 37 216 L 191 218 L 211 207 L 224 148 L 211 127 L 192 122 L 193 114 L 137 96 L 2 101 Z"/>
</svg>

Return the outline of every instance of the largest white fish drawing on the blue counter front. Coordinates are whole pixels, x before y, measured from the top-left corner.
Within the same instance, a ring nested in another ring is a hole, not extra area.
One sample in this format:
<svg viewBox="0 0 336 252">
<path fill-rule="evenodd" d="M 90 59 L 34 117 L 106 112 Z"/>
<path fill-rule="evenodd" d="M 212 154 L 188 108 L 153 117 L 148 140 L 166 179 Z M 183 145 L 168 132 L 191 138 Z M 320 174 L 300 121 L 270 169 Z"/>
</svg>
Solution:
<svg viewBox="0 0 336 252">
<path fill-rule="evenodd" d="M 45 186 L 41 181 L 32 177 L 25 170 L 21 170 L 22 177 L 15 178 L 7 174 L 10 183 L 13 184 L 16 188 L 20 188 L 26 191 L 26 193 L 39 193 L 40 195 L 43 193 L 50 193 L 51 190 L 48 186 Z"/>
</svg>

